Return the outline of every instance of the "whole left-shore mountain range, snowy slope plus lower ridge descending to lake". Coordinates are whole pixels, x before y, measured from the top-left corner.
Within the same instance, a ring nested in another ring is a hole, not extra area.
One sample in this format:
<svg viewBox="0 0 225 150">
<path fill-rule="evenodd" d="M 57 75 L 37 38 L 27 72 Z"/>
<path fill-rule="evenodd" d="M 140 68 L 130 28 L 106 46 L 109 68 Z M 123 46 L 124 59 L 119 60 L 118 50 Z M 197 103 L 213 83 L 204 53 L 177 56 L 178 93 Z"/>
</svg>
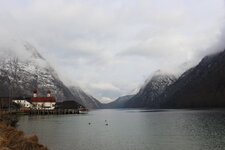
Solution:
<svg viewBox="0 0 225 150">
<path fill-rule="evenodd" d="M 17 43 L 18 45 L 18 43 Z M 32 96 L 33 89 L 38 95 L 45 96 L 47 90 L 57 98 L 77 101 L 89 108 L 99 108 L 98 102 L 87 96 L 81 89 L 69 89 L 59 78 L 57 72 L 48 61 L 27 42 L 17 47 L 0 47 L 0 96 L 27 97 Z"/>
</svg>

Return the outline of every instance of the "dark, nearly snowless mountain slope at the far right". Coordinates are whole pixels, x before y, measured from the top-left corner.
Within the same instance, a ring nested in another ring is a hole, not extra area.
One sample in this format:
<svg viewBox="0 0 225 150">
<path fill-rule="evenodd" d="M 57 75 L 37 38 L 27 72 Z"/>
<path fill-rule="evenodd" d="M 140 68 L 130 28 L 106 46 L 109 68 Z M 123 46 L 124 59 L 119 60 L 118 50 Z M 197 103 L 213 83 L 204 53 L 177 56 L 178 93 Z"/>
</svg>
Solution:
<svg viewBox="0 0 225 150">
<path fill-rule="evenodd" d="M 225 51 L 186 71 L 160 100 L 161 108 L 225 107 Z"/>
</svg>

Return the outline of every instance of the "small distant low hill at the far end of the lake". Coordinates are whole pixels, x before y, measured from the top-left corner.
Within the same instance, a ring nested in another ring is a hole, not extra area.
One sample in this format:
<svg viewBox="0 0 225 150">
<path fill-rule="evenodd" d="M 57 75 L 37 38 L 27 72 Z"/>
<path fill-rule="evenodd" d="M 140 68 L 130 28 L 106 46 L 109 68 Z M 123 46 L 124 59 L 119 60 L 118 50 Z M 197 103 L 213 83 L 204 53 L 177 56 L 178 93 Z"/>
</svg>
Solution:
<svg viewBox="0 0 225 150">
<path fill-rule="evenodd" d="M 112 109 L 112 108 L 124 108 L 124 105 L 129 101 L 134 95 L 126 95 L 117 98 L 115 101 L 107 104 L 102 104 L 103 108 Z"/>
</svg>

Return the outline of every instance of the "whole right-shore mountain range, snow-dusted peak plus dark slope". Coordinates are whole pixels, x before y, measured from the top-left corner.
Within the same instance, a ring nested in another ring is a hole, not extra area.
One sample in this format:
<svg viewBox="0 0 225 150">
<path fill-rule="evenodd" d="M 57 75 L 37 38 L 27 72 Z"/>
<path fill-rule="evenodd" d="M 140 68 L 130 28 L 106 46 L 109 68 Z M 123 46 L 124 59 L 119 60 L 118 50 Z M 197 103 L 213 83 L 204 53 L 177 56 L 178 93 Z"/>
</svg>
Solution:
<svg viewBox="0 0 225 150">
<path fill-rule="evenodd" d="M 204 57 L 178 79 L 153 75 L 130 98 L 128 108 L 214 108 L 225 107 L 225 50 Z"/>
</svg>

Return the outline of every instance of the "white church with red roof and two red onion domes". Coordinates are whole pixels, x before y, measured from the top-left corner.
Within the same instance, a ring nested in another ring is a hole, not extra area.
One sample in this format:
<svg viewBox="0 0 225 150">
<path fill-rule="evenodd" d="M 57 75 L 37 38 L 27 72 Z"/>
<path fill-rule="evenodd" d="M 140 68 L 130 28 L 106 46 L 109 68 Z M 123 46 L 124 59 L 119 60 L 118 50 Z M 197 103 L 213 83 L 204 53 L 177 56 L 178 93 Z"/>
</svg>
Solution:
<svg viewBox="0 0 225 150">
<path fill-rule="evenodd" d="M 33 97 L 30 99 L 33 109 L 47 109 L 55 108 L 56 99 L 51 97 L 51 91 L 48 90 L 46 97 L 38 97 L 37 90 L 34 90 Z"/>
</svg>

